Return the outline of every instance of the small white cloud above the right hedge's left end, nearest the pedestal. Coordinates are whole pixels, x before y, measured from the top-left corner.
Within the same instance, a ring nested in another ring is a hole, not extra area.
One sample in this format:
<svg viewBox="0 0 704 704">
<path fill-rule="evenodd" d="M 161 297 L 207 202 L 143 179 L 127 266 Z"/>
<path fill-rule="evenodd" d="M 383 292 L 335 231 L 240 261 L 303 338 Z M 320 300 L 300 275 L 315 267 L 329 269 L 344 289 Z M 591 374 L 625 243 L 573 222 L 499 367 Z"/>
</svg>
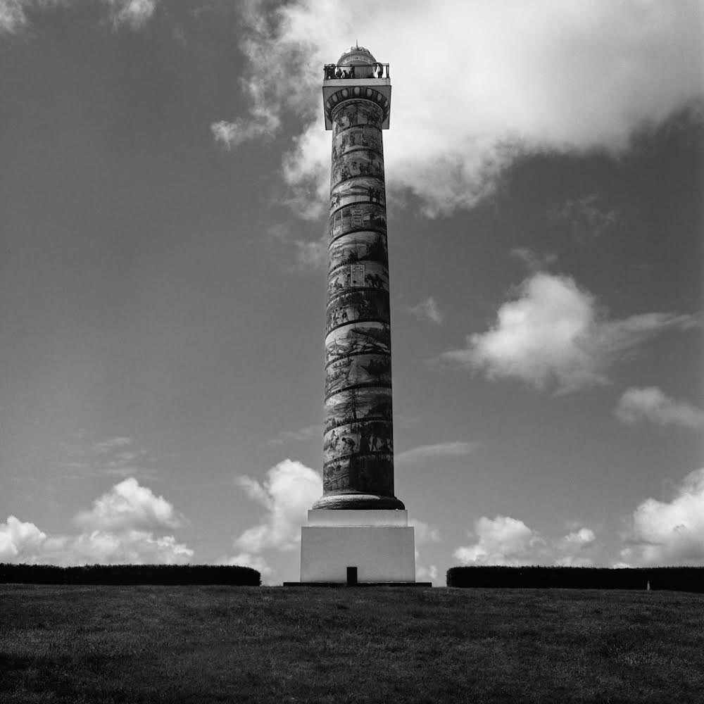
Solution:
<svg viewBox="0 0 704 704">
<path fill-rule="evenodd" d="M 477 541 L 455 550 L 463 565 L 536 565 L 545 541 L 524 522 L 510 516 L 482 516 L 474 523 Z"/>
</svg>

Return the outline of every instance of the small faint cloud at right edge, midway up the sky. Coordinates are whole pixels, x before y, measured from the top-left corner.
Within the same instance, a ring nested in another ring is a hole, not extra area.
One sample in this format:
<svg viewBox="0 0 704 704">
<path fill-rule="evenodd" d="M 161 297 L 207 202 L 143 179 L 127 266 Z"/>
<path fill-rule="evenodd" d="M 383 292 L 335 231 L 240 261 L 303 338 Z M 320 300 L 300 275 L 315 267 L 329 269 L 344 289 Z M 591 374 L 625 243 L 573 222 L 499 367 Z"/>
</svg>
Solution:
<svg viewBox="0 0 704 704">
<path fill-rule="evenodd" d="M 615 414 L 627 425 L 650 421 L 657 425 L 679 425 L 695 430 L 704 427 L 704 410 L 670 398 L 657 386 L 631 386 L 619 399 Z"/>
</svg>

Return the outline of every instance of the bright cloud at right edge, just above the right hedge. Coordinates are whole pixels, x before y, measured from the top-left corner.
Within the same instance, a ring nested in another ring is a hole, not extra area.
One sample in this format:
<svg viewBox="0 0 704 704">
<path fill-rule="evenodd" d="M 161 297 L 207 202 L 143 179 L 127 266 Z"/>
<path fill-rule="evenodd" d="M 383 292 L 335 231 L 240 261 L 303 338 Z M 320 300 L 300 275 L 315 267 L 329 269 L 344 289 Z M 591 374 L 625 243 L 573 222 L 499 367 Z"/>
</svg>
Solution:
<svg viewBox="0 0 704 704">
<path fill-rule="evenodd" d="M 684 477 L 672 501 L 643 501 L 623 537 L 631 565 L 704 565 L 704 468 Z"/>
</svg>

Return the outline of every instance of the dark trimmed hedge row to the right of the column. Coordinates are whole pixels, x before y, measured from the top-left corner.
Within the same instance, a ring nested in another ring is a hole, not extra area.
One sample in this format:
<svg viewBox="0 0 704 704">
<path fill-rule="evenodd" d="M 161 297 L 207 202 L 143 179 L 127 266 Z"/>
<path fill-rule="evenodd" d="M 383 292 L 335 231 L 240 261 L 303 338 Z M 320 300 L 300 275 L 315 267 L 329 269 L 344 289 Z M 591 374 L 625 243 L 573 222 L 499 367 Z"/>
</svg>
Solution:
<svg viewBox="0 0 704 704">
<path fill-rule="evenodd" d="M 451 567 L 447 586 L 704 592 L 704 567 Z"/>
</svg>

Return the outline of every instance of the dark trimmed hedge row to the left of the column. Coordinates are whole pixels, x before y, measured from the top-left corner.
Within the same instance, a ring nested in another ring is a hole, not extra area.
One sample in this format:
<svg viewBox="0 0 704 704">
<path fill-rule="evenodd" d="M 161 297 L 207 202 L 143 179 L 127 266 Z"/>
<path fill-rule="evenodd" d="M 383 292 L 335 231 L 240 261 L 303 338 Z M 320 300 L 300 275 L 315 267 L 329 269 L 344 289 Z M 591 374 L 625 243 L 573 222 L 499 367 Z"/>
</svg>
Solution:
<svg viewBox="0 0 704 704">
<path fill-rule="evenodd" d="M 0 563 L 0 584 L 234 584 L 259 586 L 261 575 L 237 565 L 10 565 Z"/>
</svg>

